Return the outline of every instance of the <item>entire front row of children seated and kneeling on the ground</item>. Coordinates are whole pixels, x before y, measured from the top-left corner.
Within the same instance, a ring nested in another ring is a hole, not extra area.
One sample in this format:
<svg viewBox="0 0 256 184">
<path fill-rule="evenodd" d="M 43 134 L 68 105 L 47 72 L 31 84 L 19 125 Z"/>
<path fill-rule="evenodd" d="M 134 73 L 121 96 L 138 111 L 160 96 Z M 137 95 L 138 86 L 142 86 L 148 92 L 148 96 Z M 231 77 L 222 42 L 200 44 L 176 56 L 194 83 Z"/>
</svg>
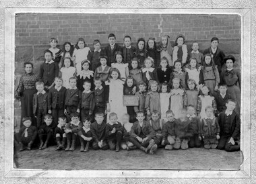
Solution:
<svg viewBox="0 0 256 184">
<path fill-rule="evenodd" d="M 75 142 L 79 136 L 80 150 L 88 152 L 92 145 L 94 150 L 102 149 L 119 151 L 120 148 L 133 150 L 139 148 L 143 152 L 154 154 L 157 148 L 166 150 L 187 149 L 200 147 L 203 140 L 204 148 L 218 148 L 226 151 L 240 150 L 240 118 L 234 111 L 236 101 L 229 99 L 226 111 L 222 111 L 218 118 L 214 117 L 212 106 L 205 107 L 205 118 L 201 122 L 195 116 L 195 108 L 188 105 L 187 111 L 181 111 L 179 118 L 174 118 L 171 110 L 166 111 L 168 122 L 160 119 L 158 111 L 152 112 L 151 120 L 144 120 L 145 113 L 138 111 L 137 122 L 129 123 L 129 115 L 123 116 L 123 124 L 117 122 L 117 114 L 110 113 L 110 121 L 104 121 L 104 113 L 95 114 L 95 122 L 91 124 L 90 117 L 79 121 L 79 113 L 71 113 L 71 121 L 66 124 L 65 116 L 59 117 L 58 126 L 53 130 L 53 117 L 44 116 L 44 124 L 40 128 L 31 125 L 30 118 L 23 118 L 24 127 L 20 129 L 20 150 L 31 150 L 31 146 L 38 134 L 40 138 L 39 149 L 49 145 L 53 136 L 57 142 L 56 150 L 65 148 L 75 150 Z M 85 144 L 84 144 L 85 143 Z"/>
</svg>

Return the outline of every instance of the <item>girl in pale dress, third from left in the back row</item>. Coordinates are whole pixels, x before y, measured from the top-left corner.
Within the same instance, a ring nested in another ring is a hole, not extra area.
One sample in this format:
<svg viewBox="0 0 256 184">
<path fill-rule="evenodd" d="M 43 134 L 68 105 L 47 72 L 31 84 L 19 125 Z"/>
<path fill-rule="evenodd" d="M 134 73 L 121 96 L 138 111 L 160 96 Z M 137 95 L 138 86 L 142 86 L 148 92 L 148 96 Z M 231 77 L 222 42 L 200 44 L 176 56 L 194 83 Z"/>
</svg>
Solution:
<svg viewBox="0 0 256 184">
<path fill-rule="evenodd" d="M 88 59 L 87 56 L 89 51 L 90 48 L 86 47 L 86 42 L 84 41 L 84 38 L 79 38 L 73 52 L 73 59 L 75 59 L 75 68 L 77 73 L 80 73 L 82 71 L 81 62 Z"/>
</svg>

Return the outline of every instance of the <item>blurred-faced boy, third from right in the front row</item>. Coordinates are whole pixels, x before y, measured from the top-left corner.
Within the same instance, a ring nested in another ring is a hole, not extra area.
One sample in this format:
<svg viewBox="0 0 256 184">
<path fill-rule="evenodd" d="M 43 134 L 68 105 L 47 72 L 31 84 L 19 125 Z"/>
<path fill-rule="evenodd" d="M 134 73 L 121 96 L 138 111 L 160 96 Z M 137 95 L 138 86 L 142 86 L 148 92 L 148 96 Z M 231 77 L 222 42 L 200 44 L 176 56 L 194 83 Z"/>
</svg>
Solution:
<svg viewBox="0 0 256 184">
<path fill-rule="evenodd" d="M 189 118 L 193 129 L 193 137 L 189 140 L 189 148 L 200 148 L 201 140 L 199 140 L 198 134 L 199 130 L 201 130 L 201 122 L 200 119 L 195 116 L 195 107 L 193 105 L 187 106 L 187 118 Z"/>
</svg>

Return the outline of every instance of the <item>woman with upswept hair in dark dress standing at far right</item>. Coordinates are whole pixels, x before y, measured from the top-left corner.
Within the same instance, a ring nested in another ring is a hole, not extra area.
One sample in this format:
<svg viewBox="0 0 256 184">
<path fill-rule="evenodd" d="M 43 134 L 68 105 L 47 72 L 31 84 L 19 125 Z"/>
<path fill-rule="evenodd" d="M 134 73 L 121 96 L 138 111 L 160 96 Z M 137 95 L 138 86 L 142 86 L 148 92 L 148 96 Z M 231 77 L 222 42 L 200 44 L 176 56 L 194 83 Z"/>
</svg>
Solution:
<svg viewBox="0 0 256 184">
<path fill-rule="evenodd" d="M 236 112 L 240 113 L 241 107 L 241 73 L 238 70 L 233 69 L 235 58 L 232 55 L 226 56 L 224 62 L 226 63 L 226 69 L 220 74 L 220 82 L 228 85 L 227 93 L 230 93 L 232 99 L 236 100 Z M 239 83 L 239 87 L 237 85 Z"/>
</svg>

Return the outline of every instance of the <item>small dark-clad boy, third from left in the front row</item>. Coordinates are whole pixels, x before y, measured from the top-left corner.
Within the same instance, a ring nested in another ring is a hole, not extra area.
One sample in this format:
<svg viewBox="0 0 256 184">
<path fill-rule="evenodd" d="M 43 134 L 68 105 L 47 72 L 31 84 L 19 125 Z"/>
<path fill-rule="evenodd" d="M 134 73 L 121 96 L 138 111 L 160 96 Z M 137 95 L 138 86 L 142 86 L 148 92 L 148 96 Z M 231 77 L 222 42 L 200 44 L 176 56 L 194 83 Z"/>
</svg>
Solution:
<svg viewBox="0 0 256 184">
<path fill-rule="evenodd" d="M 55 139 L 57 142 L 56 150 L 64 149 L 64 146 L 67 142 L 67 136 L 65 133 L 65 126 L 67 123 L 67 118 L 65 116 L 60 116 L 58 120 L 58 125 L 55 128 Z M 61 142 L 62 141 L 62 142 Z"/>
</svg>

